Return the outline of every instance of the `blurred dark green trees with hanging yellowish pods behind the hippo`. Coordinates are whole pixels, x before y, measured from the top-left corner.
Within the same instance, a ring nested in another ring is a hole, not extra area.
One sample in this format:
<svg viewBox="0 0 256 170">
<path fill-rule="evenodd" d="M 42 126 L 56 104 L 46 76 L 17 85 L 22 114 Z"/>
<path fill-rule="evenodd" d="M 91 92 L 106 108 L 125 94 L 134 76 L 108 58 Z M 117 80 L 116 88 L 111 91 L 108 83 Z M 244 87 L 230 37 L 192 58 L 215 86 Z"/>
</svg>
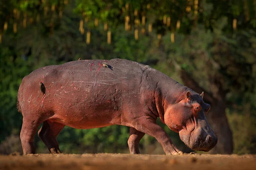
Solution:
<svg viewBox="0 0 256 170">
<path fill-rule="evenodd" d="M 22 153 L 22 78 L 79 58 L 141 62 L 204 91 L 218 135 L 210 152 L 256 153 L 256 0 L 0 0 L 0 154 Z M 117 125 L 65 127 L 57 139 L 63 153 L 128 153 L 128 135 Z M 48 153 L 37 135 L 34 143 Z M 164 154 L 147 135 L 140 149 Z"/>
</svg>

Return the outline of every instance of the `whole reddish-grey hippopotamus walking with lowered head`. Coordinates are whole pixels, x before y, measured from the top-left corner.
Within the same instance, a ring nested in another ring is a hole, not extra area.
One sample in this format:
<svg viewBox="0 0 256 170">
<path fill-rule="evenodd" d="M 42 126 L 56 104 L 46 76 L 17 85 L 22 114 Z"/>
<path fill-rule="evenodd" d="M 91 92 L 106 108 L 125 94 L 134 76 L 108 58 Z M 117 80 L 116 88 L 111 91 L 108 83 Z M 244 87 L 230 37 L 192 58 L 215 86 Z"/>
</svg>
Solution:
<svg viewBox="0 0 256 170">
<path fill-rule="evenodd" d="M 51 153 L 61 153 L 56 137 L 64 128 L 130 127 L 130 153 L 140 153 L 146 134 L 166 155 L 183 154 L 156 120 L 179 133 L 192 150 L 209 151 L 217 137 L 206 119 L 210 105 L 200 95 L 165 74 L 125 59 L 77 60 L 49 65 L 24 77 L 17 94 L 23 115 L 23 154 L 33 154 L 38 136 Z"/>
</svg>

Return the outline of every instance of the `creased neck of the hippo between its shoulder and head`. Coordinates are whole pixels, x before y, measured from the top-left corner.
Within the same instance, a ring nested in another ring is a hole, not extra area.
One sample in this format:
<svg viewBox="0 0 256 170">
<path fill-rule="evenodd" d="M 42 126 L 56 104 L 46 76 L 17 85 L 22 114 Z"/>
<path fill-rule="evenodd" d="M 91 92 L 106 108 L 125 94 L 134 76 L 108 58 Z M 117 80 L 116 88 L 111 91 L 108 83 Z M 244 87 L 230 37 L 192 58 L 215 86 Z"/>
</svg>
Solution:
<svg viewBox="0 0 256 170">
<path fill-rule="evenodd" d="M 191 89 L 165 74 L 159 76 L 155 92 L 155 103 L 161 122 L 165 124 L 164 113 L 167 106 L 174 105 L 183 96 L 185 97 L 187 91 L 191 91 Z"/>
</svg>

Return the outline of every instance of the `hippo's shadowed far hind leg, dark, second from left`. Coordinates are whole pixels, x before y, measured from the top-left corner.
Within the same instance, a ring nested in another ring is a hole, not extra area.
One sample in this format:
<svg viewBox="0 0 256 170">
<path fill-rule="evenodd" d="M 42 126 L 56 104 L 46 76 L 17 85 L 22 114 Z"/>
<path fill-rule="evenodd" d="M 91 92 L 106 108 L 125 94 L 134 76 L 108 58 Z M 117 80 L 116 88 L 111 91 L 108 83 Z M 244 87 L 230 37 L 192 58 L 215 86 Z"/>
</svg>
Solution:
<svg viewBox="0 0 256 170">
<path fill-rule="evenodd" d="M 53 154 L 61 153 L 56 137 L 64 128 L 65 125 L 58 122 L 50 122 L 46 120 L 43 122 L 43 126 L 38 131 L 39 138 L 48 147 L 49 151 Z"/>
</svg>

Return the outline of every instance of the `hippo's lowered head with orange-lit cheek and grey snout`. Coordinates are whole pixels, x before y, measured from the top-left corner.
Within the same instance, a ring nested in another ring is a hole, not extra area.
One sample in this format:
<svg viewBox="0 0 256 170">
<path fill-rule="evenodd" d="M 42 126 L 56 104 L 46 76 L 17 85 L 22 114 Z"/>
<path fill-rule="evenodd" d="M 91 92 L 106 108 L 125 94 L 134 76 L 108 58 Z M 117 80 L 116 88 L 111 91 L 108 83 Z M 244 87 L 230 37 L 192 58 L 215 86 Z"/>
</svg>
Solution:
<svg viewBox="0 0 256 170">
<path fill-rule="evenodd" d="M 180 139 L 192 150 L 208 152 L 218 142 L 206 119 L 210 105 L 203 101 L 204 92 L 199 95 L 187 91 L 175 105 L 164 114 L 166 125 L 179 133 Z"/>
</svg>

